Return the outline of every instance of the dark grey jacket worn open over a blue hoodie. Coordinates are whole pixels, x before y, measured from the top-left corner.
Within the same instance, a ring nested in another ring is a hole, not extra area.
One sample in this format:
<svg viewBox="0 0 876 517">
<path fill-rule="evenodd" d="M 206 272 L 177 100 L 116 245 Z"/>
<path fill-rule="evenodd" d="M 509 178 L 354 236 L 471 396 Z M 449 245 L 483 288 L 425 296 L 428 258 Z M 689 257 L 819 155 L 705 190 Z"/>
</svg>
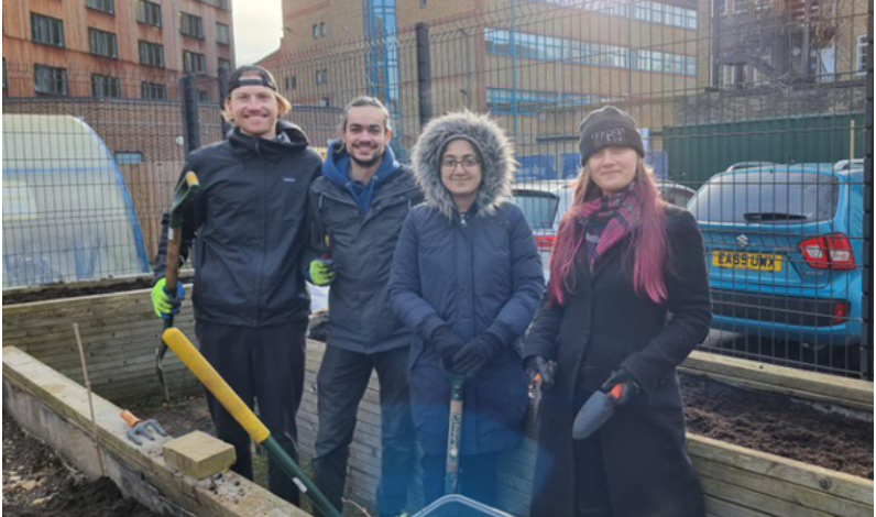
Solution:
<svg viewBox="0 0 876 517">
<path fill-rule="evenodd" d="M 337 271 L 329 289 L 331 346 L 377 353 L 410 344 L 410 332 L 390 307 L 386 289 L 402 226 L 410 208 L 421 201 L 423 194 L 404 165 L 381 186 L 365 215 L 350 193 L 325 176 L 314 182 L 307 261 L 328 252 L 322 243 L 330 235 Z"/>
</svg>

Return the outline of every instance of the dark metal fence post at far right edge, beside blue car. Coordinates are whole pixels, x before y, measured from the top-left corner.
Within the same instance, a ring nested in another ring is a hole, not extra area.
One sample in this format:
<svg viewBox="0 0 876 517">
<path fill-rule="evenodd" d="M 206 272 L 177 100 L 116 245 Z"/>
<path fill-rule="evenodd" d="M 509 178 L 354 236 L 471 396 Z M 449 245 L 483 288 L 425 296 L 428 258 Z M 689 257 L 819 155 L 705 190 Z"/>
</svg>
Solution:
<svg viewBox="0 0 876 517">
<path fill-rule="evenodd" d="M 861 370 L 873 381 L 873 0 L 867 2 L 867 107 L 864 128 L 864 304 Z"/>
</svg>

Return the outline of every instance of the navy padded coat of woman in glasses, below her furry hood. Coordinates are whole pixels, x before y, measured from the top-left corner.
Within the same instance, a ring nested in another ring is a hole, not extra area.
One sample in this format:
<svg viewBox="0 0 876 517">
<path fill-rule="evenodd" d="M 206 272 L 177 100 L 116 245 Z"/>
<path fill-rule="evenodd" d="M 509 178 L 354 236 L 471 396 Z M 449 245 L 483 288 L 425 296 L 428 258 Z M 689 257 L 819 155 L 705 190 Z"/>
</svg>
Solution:
<svg viewBox="0 0 876 517">
<path fill-rule="evenodd" d="M 464 393 L 462 453 L 497 452 L 515 447 L 526 414 L 526 380 L 516 341 L 538 307 L 545 280 L 532 230 L 515 205 L 494 213 L 414 208 L 402 230 L 393 261 L 390 299 L 415 333 L 410 350 L 414 422 L 426 454 L 447 448 L 450 383 L 431 333 L 447 323 L 462 340 L 490 332 L 505 350 Z"/>
</svg>

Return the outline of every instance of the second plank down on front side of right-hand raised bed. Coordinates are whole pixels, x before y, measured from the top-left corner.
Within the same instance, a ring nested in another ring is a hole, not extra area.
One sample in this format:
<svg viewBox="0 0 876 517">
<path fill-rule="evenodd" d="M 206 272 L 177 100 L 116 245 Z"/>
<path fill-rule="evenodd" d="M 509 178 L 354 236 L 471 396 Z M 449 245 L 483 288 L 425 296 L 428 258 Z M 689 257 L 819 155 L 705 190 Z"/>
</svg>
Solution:
<svg viewBox="0 0 876 517">
<path fill-rule="evenodd" d="M 700 459 L 697 472 L 702 476 L 748 488 L 753 492 L 787 501 L 807 508 L 813 508 L 836 517 L 857 517 L 873 515 L 873 505 L 864 505 L 853 501 L 826 494 L 823 491 L 807 488 L 785 480 L 760 475 L 751 471 L 736 469 L 711 460 Z"/>
</svg>

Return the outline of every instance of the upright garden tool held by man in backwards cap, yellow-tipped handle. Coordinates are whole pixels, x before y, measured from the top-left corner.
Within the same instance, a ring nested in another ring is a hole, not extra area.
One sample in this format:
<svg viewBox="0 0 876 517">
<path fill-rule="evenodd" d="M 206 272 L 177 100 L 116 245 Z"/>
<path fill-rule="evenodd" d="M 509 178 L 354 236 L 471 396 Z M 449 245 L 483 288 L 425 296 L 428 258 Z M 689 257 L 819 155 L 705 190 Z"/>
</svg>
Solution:
<svg viewBox="0 0 876 517">
<path fill-rule="evenodd" d="M 164 292 L 171 296 L 176 296 L 176 284 L 179 279 L 179 245 L 183 243 L 183 213 L 195 199 L 200 190 L 198 176 L 193 172 L 186 173 L 179 185 L 174 191 L 174 200 L 171 204 L 171 223 L 167 227 L 167 272 L 165 275 Z M 164 330 L 174 326 L 174 315 L 171 312 L 164 318 Z M 164 340 L 155 350 L 155 374 L 158 376 L 164 399 L 171 402 L 171 392 L 167 389 L 167 381 L 164 377 L 164 354 L 167 353 L 167 344 Z"/>
</svg>

